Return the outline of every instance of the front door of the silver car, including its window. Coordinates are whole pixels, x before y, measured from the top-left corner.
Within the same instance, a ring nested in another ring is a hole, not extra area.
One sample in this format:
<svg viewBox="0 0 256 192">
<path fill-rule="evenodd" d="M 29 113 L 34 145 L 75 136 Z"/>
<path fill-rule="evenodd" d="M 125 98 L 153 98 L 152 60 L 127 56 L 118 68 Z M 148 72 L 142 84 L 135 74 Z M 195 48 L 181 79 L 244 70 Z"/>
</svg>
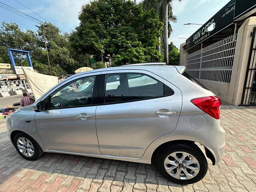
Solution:
<svg viewBox="0 0 256 192">
<path fill-rule="evenodd" d="M 44 146 L 52 151 L 100 154 L 93 103 L 100 73 L 78 76 L 54 90 L 48 109 L 35 115 Z"/>
</svg>

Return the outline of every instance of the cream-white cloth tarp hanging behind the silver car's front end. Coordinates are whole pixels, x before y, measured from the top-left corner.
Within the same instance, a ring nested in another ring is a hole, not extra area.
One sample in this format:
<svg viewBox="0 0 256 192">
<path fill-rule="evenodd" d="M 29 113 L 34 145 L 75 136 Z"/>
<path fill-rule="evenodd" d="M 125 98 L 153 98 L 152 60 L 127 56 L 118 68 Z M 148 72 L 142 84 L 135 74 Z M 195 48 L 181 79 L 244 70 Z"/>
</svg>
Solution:
<svg viewBox="0 0 256 192">
<path fill-rule="evenodd" d="M 56 76 L 40 74 L 26 68 L 23 68 L 23 70 L 36 99 L 58 84 L 58 77 Z"/>
</svg>

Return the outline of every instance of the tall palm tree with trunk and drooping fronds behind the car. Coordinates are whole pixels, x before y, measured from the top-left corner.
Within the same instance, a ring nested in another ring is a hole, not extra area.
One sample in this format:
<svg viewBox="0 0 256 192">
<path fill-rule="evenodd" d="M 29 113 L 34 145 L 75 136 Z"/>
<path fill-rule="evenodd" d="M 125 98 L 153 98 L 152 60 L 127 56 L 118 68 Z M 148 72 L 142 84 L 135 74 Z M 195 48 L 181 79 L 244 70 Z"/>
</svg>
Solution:
<svg viewBox="0 0 256 192">
<path fill-rule="evenodd" d="M 178 1 L 181 1 L 181 0 L 178 0 Z M 176 16 L 174 16 L 172 13 L 172 2 L 173 0 L 144 0 L 142 2 L 146 10 L 150 10 L 150 9 L 156 10 L 159 20 L 164 23 L 164 30 L 163 30 L 164 62 L 166 62 L 166 64 L 169 63 L 168 38 L 172 32 L 172 26 L 170 22 L 177 21 Z M 160 51 L 159 46 L 158 46 L 158 50 Z"/>
</svg>

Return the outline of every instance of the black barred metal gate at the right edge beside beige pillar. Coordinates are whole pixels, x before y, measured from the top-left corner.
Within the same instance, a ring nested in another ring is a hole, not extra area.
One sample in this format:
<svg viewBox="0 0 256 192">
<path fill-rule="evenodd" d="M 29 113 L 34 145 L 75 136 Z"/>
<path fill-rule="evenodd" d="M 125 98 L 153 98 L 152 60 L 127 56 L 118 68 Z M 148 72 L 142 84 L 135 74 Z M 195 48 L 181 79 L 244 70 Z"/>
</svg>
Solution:
<svg viewBox="0 0 256 192">
<path fill-rule="evenodd" d="M 244 81 L 242 94 L 243 106 L 256 106 L 256 27 L 252 32 L 252 43 L 250 47 L 249 60 Z"/>
</svg>

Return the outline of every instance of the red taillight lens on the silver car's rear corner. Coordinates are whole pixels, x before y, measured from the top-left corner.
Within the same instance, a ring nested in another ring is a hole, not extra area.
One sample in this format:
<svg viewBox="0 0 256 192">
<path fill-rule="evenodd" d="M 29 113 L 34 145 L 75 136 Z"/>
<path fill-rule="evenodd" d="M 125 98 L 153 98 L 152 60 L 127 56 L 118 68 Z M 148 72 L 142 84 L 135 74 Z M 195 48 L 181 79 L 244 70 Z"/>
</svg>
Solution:
<svg viewBox="0 0 256 192">
<path fill-rule="evenodd" d="M 217 96 L 200 97 L 190 101 L 213 118 L 220 119 L 221 100 Z"/>
</svg>

